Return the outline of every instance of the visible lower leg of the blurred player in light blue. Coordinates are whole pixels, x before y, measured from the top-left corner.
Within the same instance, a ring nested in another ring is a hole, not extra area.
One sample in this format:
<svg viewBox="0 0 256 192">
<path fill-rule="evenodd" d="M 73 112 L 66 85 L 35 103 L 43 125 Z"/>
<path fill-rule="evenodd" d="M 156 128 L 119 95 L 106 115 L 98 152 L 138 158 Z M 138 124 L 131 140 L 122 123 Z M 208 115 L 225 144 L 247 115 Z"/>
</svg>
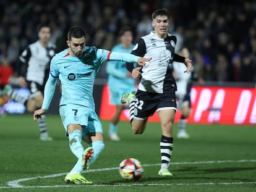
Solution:
<svg viewBox="0 0 256 192">
<path fill-rule="evenodd" d="M 123 109 L 122 105 L 116 105 L 116 112 L 114 113 L 109 123 L 108 136 L 113 141 L 120 140 L 119 136 L 117 135 L 117 128 L 118 128 L 119 117 L 121 115 L 122 109 Z"/>
</svg>

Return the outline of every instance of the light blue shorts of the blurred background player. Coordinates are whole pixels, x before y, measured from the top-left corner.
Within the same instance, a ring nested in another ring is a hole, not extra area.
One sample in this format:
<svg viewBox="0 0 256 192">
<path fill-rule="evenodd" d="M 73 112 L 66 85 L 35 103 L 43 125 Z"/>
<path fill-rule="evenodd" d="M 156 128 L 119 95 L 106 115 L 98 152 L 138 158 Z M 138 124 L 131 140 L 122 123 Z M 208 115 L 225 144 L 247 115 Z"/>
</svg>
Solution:
<svg viewBox="0 0 256 192">
<path fill-rule="evenodd" d="M 127 87 L 127 88 L 118 88 L 114 86 L 109 86 L 110 93 L 110 102 L 116 106 L 121 105 L 120 98 L 124 93 L 130 93 L 132 91 L 136 91 L 135 87 Z"/>
</svg>

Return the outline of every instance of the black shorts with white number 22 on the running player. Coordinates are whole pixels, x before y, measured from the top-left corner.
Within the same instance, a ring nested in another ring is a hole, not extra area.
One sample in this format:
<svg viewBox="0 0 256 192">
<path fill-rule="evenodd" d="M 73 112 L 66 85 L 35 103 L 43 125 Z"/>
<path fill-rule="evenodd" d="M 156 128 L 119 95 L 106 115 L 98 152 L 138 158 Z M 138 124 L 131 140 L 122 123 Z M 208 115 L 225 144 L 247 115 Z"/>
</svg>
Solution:
<svg viewBox="0 0 256 192">
<path fill-rule="evenodd" d="M 176 111 L 175 92 L 171 93 L 148 93 L 138 90 L 134 109 L 135 119 L 147 119 L 155 111 L 174 109 Z"/>
</svg>

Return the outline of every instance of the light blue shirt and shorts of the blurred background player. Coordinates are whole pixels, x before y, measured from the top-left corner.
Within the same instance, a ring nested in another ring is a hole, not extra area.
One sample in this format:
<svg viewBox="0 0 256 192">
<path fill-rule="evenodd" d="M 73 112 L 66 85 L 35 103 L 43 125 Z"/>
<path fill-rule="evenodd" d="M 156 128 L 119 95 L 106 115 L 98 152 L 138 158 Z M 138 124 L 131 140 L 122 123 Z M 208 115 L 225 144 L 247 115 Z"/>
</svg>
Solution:
<svg viewBox="0 0 256 192">
<path fill-rule="evenodd" d="M 117 44 L 114 46 L 112 51 L 116 52 L 132 52 L 134 44 L 132 44 L 130 49 L 124 49 L 122 44 Z M 115 105 L 120 105 L 120 98 L 124 93 L 130 93 L 135 91 L 135 79 L 127 78 L 126 62 L 122 61 L 109 61 L 106 67 L 108 76 L 108 87 L 110 91 L 110 102 Z"/>
</svg>

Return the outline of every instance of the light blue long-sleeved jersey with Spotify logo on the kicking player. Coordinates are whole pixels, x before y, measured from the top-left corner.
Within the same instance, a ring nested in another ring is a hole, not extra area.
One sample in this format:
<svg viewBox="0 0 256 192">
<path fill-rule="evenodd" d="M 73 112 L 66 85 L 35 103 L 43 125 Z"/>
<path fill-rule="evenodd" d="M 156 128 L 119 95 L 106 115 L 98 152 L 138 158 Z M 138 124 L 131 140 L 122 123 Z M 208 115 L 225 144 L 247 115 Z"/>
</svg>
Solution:
<svg viewBox="0 0 256 192">
<path fill-rule="evenodd" d="M 95 109 L 93 84 L 101 65 L 106 61 L 137 62 L 140 57 L 85 46 L 82 58 L 70 56 L 68 49 L 51 60 L 50 75 L 45 85 L 42 109 L 48 109 L 53 99 L 56 79 L 62 85 L 60 105 L 77 104 Z"/>
</svg>

